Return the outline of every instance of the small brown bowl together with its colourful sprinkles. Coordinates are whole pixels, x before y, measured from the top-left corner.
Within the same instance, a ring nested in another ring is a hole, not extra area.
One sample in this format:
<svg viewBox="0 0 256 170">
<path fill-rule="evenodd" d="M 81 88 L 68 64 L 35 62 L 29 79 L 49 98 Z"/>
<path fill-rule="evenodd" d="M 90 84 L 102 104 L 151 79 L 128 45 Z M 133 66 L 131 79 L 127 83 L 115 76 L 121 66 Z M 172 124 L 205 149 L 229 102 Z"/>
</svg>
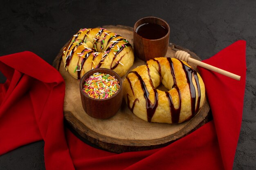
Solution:
<svg viewBox="0 0 256 170">
<path fill-rule="evenodd" d="M 85 113 L 97 119 L 114 116 L 122 103 L 121 77 L 108 68 L 88 71 L 79 83 Z"/>
</svg>

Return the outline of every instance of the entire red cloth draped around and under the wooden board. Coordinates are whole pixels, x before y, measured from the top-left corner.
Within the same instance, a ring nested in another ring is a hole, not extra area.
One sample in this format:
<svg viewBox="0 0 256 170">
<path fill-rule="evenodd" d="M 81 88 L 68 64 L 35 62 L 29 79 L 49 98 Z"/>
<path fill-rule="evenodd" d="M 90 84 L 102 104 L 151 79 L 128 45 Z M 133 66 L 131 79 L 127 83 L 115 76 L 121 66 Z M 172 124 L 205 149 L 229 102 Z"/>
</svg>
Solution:
<svg viewBox="0 0 256 170">
<path fill-rule="evenodd" d="M 115 154 L 88 146 L 63 126 L 65 83 L 31 52 L 0 57 L 0 155 L 45 141 L 46 170 L 231 170 L 240 133 L 245 92 L 245 41 L 204 62 L 241 76 L 240 81 L 199 68 L 213 121 L 164 148 Z"/>
</svg>

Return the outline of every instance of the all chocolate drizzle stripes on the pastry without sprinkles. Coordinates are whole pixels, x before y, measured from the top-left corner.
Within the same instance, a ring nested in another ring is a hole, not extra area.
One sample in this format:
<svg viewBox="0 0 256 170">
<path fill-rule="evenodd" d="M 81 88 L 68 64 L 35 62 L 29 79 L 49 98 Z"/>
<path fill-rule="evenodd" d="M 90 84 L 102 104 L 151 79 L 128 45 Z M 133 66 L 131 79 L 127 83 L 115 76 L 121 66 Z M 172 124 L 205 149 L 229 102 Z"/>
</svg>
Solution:
<svg viewBox="0 0 256 170">
<path fill-rule="evenodd" d="M 155 60 L 155 59 L 153 59 L 153 60 L 155 62 L 157 62 L 157 64 L 158 64 L 158 72 L 159 72 L 160 77 L 162 77 L 162 75 L 161 75 L 161 65 L 159 64 L 159 62 L 157 60 Z M 172 62 L 170 57 L 167 57 L 167 61 L 168 61 L 169 65 L 170 65 L 171 75 L 173 77 L 173 86 L 172 86 L 172 88 L 175 88 L 177 90 L 177 93 L 178 93 L 178 107 L 177 108 L 174 107 L 171 94 L 169 92 L 165 92 L 165 93 L 166 93 L 166 97 L 168 98 L 168 102 L 169 102 L 169 108 L 170 108 L 170 113 L 171 113 L 171 121 L 172 121 L 172 123 L 179 123 L 179 121 L 180 121 L 180 111 L 181 111 L 181 97 L 182 96 L 181 96 L 181 91 L 180 91 L 180 89 L 179 89 L 179 87 L 177 85 L 177 82 L 176 82 L 173 62 Z M 190 68 L 189 66 L 186 66 L 186 64 L 184 64 L 182 61 L 180 61 L 180 62 L 182 64 L 182 68 L 183 68 L 184 73 L 186 75 L 187 83 L 188 83 L 189 89 L 190 89 L 191 113 L 192 113 L 191 117 L 193 117 L 195 115 L 195 113 L 198 112 L 199 107 L 200 107 L 201 90 L 200 90 L 199 79 L 198 79 L 197 72 L 195 70 L 193 70 L 193 68 Z M 151 76 L 150 76 L 150 69 L 148 67 L 148 63 L 147 62 L 146 62 L 146 66 L 147 66 L 147 69 L 148 69 L 148 76 L 149 76 L 150 86 L 153 88 L 153 91 L 154 91 L 154 96 L 155 96 L 155 102 L 154 103 L 152 103 L 150 101 L 148 89 L 146 88 L 146 84 L 143 81 L 143 79 L 141 78 L 141 76 L 139 75 L 139 73 L 137 73 L 136 71 L 131 71 L 130 73 L 134 73 L 138 77 L 138 79 L 139 79 L 139 82 L 141 84 L 141 89 L 144 92 L 144 98 L 146 99 L 147 119 L 148 119 L 148 122 L 151 122 L 152 121 L 152 117 L 155 114 L 155 110 L 156 110 L 156 108 L 158 106 L 158 93 L 157 93 L 157 90 L 155 89 L 155 87 L 153 86 L 153 82 L 152 82 L 152 79 L 151 79 Z M 193 77 L 195 79 L 195 83 L 196 83 L 197 91 L 198 91 L 198 102 L 197 102 L 197 104 L 195 103 L 196 102 L 197 94 L 196 94 L 195 86 L 194 86 L 194 84 L 192 82 Z M 128 75 L 126 76 L 126 79 L 127 79 L 128 83 L 130 84 L 130 88 L 131 88 L 132 93 L 134 95 L 134 92 L 133 92 L 133 89 L 132 89 L 132 84 L 130 82 L 130 79 L 128 78 Z M 132 107 L 130 107 L 130 101 L 129 101 L 128 94 L 127 94 L 128 108 L 132 112 L 133 112 L 133 109 L 135 107 L 135 103 L 136 103 L 137 100 L 138 99 L 135 99 L 135 101 L 132 104 Z"/>
</svg>

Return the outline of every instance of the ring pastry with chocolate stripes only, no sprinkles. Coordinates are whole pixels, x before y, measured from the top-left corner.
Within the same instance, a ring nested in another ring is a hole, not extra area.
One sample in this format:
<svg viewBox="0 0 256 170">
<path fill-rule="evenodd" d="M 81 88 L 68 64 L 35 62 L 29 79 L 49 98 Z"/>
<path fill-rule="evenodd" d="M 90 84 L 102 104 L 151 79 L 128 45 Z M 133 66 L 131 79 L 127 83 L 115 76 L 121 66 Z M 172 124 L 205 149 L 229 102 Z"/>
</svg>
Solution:
<svg viewBox="0 0 256 170">
<path fill-rule="evenodd" d="M 161 82 L 169 91 L 156 89 Z M 181 123 L 193 117 L 205 100 L 200 75 L 186 62 L 170 57 L 133 69 L 123 86 L 128 108 L 148 122 Z"/>
</svg>

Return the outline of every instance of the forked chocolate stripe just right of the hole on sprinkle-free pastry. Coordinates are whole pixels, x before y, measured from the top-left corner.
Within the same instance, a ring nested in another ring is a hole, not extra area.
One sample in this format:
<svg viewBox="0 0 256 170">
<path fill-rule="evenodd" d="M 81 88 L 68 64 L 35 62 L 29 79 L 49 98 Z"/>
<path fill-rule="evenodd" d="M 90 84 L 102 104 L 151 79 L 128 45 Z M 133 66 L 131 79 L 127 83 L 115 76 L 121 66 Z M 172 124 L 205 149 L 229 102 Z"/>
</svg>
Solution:
<svg viewBox="0 0 256 170">
<path fill-rule="evenodd" d="M 170 57 L 167 57 L 167 60 L 168 60 L 168 62 L 170 64 L 171 74 L 173 76 L 173 88 L 176 88 L 176 90 L 177 90 L 177 92 L 179 94 L 179 107 L 177 109 L 173 105 L 173 100 L 171 98 L 170 93 L 168 93 L 168 92 L 165 92 L 165 93 L 166 93 L 166 96 L 167 96 L 168 101 L 169 101 L 169 107 L 170 107 L 170 111 L 171 111 L 172 123 L 178 123 L 179 120 L 180 120 L 181 94 L 180 94 L 180 89 L 179 89 L 179 87 L 177 86 L 177 83 L 176 83 L 173 62 L 172 62 Z"/>
</svg>

